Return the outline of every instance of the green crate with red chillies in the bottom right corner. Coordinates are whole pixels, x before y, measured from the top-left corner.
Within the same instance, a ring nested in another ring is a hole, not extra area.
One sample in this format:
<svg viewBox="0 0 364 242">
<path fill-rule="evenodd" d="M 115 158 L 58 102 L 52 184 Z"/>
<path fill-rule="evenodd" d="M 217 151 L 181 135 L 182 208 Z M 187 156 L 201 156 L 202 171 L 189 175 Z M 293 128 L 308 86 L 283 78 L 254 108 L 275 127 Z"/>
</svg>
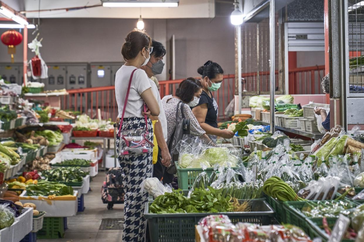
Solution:
<svg viewBox="0 0 364 242">
<path fill-rule="evenodd" d="M 335 225 L 337 218 L 327 218 L 327 223 L 329 227 L 332 229 Z M 308 232 L 307 235 L 313 238 L 321 238 L 322 242 L 327 242 L 329 239 L 329 235 L 325 232 L 322 224 L 321 218 L 313 218 L 307 219 Z M 352 239 L 343 239 L 342 242 L 351 242 L 354 241 Z"/>
</svg>

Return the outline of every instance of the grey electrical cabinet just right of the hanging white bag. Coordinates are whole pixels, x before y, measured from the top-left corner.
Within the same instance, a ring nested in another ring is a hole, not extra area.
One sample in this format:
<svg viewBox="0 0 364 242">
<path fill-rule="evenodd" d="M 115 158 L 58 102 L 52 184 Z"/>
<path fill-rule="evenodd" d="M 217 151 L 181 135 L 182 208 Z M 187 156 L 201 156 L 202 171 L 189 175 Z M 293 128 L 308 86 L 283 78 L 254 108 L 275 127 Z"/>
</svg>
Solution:
<svg viewBox="0 0 364 242">
<path fill-rule="evenodd" d="M 66 88 L 66 66 L 52 63 L 48 65 L 48 78 L 44 82 L 45 90 L 59 90 Z"/>
</svg>

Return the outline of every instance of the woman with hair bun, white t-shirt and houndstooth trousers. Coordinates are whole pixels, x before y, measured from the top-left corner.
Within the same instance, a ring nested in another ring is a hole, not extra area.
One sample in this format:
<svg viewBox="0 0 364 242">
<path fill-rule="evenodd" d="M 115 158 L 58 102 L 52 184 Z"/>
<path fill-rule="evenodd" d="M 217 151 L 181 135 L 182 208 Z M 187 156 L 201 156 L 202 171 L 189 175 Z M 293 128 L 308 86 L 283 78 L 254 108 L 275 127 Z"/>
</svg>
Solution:
<svg viewBox="0 0 364 242">
<path fill-rule="evenodd" d="M 119 143 L 120 130 L 138 128 L 146 129 L 146 139 L 153 143 L 152 122 L 149 118 L 145 118 L 145 115 L 158 116 L 159 105 L 147 74 L 139 69 L 149 61 L 153 50 L 151 43 L 151 38 L 145 31 L 134 29 L 128 33 L 121 49 L 126 62 L 115 75 L 115 97 L 118 103 L 118 117 L 121 118 L 116 147 L 125 190 L 123 242 L 142 242 L 145 239 L 146 220 L 143 212 L 148 201 L 148 193 L 140 192 L 140 184 L 151 177 L 152 153 L 120 155 Z"/>
</svg>

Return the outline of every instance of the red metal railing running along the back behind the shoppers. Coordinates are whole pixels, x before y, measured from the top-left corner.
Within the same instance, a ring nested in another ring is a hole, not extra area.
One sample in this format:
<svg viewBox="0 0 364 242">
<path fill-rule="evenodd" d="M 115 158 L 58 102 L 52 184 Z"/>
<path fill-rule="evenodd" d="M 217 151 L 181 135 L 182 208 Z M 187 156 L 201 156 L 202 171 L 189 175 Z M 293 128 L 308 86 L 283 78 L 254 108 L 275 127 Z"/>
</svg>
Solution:
<svg viewBox="0 0 364 242">
<path fill-rule="evenodd" d="M 319 94 L 321 93 L 321 78 L 325 66 L 313 66 L 297 68 L 289 71 L 289 93 L 290 94 Z M 257 89 L 261 92 L 269 91 L 269 71 L 244 73 L 245 89 L 247 94 L 253 95 Z M 278 78 L 278 71 L 276 71 Z M 259 82 L 258 82 L 259 80 Z M 312 81 L 313 80 L 313 81 Z M 159 93 L 161 97 L 174 94 L 179 83 L 183 79 L 160 81 Z M 277 82 L 278 86 L 278 82 Z M 221 88 L 213 92 L 219 110 L 219 119 L 225 119 L 225 108 L 234 99 L 235 75 L 224 75 Z M 91 87 L 83 89 L 67 90 L 69 95 L 62 100 L 62 109 L 80 111 L 91 117 L 98 117 L 98 109 L 103 119 L 115 120 L 118 115 L 118 105 L 115 99 L 114 86 Z"/>
</svg>

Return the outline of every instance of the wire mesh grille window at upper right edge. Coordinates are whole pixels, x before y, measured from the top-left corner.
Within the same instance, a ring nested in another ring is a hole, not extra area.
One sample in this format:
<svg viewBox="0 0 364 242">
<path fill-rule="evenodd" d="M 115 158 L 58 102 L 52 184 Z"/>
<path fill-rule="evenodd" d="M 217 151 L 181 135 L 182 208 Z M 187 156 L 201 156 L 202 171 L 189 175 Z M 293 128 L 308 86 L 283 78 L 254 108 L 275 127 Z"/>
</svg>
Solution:
<svg viewBox="0 0 364 242">
<path fill-rule="evenodd" d="M 364 95 L 364 2 L 348 1 L 349 90 L 350 96 Z M 360 94 L 361 93 L 361 94 Z M 356 95 L 355 95 L 356 94 Z"/>
</svg>

